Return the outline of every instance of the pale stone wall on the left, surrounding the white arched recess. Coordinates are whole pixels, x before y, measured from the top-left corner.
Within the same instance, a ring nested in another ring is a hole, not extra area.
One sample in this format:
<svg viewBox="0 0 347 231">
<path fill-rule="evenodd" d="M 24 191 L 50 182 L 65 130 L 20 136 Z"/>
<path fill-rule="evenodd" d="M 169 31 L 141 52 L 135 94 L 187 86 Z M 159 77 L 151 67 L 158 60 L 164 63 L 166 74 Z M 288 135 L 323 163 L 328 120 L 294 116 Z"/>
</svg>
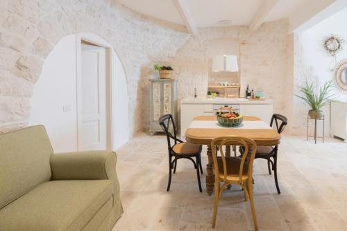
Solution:
<svg viewBox="0 0 347 231">
<path fill-rule="evenodd" d="M 164 25 L 111 0 L 1 0 L 0 11 L 0 132 L 26 126 L 29 99 L 43 60 L 71 33 L 94 33 L 115 48 L 127 76 L 130 130 L 142 130 L 148 123 L 141 116 L 143 70 L 174 57 L 189 38 L 179 27 Z"/>
</svg>

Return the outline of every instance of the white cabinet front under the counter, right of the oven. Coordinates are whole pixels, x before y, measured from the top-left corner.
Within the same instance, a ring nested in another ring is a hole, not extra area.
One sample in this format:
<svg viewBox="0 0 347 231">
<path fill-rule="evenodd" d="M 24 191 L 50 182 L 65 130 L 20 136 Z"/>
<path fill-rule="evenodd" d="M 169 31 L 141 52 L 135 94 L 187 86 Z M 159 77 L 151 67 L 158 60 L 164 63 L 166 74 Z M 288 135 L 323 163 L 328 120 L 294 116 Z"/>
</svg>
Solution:
<svg viewBox="0 0 347 231">
<path fill-rule="evenodd" d="M 270 123 L 273 114 L 272 104 L 241 104 L 239 112 L 244 116 L 259 117 L 262 121 Z"/>
</svg>

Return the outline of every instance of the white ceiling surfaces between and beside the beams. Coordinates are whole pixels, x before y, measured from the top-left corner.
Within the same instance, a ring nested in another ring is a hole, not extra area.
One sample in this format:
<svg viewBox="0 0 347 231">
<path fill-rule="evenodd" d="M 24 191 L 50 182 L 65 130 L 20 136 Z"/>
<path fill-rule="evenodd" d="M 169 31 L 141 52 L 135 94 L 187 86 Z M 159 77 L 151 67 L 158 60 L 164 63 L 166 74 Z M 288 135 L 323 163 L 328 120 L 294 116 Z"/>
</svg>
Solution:
<svg viewBox="0 0 347 231">
<path fill-rule="evenodd" d="M 304 6 L 307 0 L 119 0 L 122 4 L 144 15 L 176 24 L 185 24 L 177 8 L 183 5 L 185 15 L 195 26 L 249 26 L 267 2 L 275 2 L 263 22 L 289 17 Z M 181 3 L 178 3 L 181 2 Z M 183 3 L 182 3 L 183 2 Z M 187 15 L 188 14 L 188 15 Z M 221 20 L 228 20 L 220 22 Z M 229 21 L 230 20 L 230 21 Z"/>
</svg>

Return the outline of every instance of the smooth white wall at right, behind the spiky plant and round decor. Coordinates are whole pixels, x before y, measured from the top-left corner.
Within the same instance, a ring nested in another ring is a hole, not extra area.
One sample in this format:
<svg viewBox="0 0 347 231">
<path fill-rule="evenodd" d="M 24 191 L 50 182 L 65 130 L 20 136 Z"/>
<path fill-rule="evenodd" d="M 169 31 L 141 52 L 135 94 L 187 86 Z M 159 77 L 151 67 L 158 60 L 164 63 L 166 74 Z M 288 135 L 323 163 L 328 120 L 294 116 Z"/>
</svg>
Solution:
<svg viewBox="0 0 347 231">
<path fill-rule="evenodd" d="M 347 11 L 341 10 L 337 14 L 332 15 L 323 22 L 316 24 L 312 28 L 297 33 L 295 36 L 295 58 L 294 58 L 294 92 L 298 94 L 298 86 L 305 83 L 306 80 L 316 84 L 317 89 L 321 87 L 327 80 L 333 78 L 332 69 L 335 67 L 335 58 L 333 58 L 323 48 L 323 40 L 327 35 L 336 34 L 343 37 L 347 41 Z M 337 54 L 337 62 L 347 58 L 347 44 L 345 49 Z M 347 94 L 341 94 L 335 91 L 337 100 L 347 101 Z M 294 134 L 305 134 L 306 117 L 309 106 L 300 99 L 293 99 L 293 105 L 296 108 L 296 120 L 294 120 Z M 330 107 L 323 108 L 325 114 L 325 135 L 330 135 Z M 313 124 L 310 124 L 313 126 Z M 322 126 L 319 125 L 319 133 L 322 132 Z"/>
</svg>

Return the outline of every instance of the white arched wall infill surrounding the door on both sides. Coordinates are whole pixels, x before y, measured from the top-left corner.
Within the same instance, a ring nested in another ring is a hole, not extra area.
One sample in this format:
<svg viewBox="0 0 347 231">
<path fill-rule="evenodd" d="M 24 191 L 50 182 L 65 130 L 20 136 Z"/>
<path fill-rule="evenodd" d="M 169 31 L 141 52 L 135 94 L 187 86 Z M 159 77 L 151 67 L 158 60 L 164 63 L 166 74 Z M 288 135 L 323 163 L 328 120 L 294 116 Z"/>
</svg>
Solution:
<svg viewBox="0 0 347 231">
<path fill-rule="evenodd" d="M 76 81 L 78 40 L 87 40 L 110 49 L 111 140 L 112 150 L 128 142 L 128 92 L 126 74 L 113 47 L 103 38 L 81 33 L 63 37 L 44 60 L 42 73 L 33 89 L 29 124 L 44 124 L 54 151 L 78 150 Z"/>
</svg>

